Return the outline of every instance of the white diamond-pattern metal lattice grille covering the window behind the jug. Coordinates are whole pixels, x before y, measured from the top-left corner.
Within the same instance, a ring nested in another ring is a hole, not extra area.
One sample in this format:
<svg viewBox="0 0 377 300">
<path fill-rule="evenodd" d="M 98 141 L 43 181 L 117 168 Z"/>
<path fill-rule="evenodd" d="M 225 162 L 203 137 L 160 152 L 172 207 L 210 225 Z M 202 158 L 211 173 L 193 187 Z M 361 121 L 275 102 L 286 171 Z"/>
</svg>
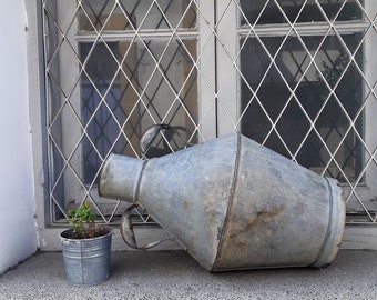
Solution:
<svg viewBox="0 0 377 300">
<path fill-rule="evenodd" d="M 52 222 L 85 199 L 116 221 L 126 204 L 98 197 L 103 161 L 140 157 L 166 123 L 190 143 L 238 130 L 336 178 L 348 221 L 377 223 L 371 0 L 42 2 Z"/>
</svg>

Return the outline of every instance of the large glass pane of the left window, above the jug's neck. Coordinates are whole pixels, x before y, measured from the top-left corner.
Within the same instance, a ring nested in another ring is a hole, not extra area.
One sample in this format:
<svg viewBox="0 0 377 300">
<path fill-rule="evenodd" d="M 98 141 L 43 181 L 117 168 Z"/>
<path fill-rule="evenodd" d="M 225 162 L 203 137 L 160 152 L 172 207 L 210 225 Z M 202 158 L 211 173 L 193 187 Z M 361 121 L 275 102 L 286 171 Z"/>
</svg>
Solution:
<svg viewBox="0 0 377 300">
<path fill-rule="evenodd" d="M 110 151 L 140 154 L 141 134 L 154 123 L 179 127 L 184 139 L 195 142 L 195 40 L 79 46 L 85 184 L 96 180 Z"/>
</svg>

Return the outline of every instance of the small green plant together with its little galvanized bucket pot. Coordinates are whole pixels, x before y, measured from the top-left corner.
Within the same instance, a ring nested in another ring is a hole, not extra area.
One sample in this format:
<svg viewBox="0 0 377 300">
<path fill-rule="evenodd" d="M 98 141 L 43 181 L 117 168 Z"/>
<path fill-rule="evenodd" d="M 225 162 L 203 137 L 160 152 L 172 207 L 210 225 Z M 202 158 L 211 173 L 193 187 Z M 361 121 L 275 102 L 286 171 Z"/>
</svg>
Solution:
<svg viewBox="0 0 377 300">
<path fill-rule="evenodd" d="M 93 286 L 110 274 L 112 230 L 95 224 L 89 200 L 68 211 L 71 229 L 60 233 L 67 280 L 72 286 Z"/>
</svg>

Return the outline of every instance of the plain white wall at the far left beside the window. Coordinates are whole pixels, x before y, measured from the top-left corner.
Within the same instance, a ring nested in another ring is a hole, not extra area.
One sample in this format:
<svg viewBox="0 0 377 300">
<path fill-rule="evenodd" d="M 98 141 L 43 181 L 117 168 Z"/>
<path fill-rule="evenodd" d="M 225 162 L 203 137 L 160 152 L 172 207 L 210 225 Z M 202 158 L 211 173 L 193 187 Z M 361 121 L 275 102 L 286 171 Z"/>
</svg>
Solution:
<svg viewBox="0 0 377 300">
<path fill-rule="evenodd" d="M 0 9 L 0 273 L 38 249 L 23 0 Z"/>
</svg>

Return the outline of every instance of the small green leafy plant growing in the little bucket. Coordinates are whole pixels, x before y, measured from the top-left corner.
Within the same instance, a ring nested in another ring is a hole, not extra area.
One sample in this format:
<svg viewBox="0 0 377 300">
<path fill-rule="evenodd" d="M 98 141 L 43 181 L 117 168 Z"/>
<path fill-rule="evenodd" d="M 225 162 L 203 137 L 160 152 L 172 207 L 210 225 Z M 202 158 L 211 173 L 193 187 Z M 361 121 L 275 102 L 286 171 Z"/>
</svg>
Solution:
<svg viewBox="0 0 377 300">
<path fill-rule="evenodd" d="M 91 209 L 90 201 L 86 199 L 84 203 L 68 211 L 68 219 L 73 227 L 73 238 L 91 239 L 95 237 L 95 214 Z"/>
</svg>

